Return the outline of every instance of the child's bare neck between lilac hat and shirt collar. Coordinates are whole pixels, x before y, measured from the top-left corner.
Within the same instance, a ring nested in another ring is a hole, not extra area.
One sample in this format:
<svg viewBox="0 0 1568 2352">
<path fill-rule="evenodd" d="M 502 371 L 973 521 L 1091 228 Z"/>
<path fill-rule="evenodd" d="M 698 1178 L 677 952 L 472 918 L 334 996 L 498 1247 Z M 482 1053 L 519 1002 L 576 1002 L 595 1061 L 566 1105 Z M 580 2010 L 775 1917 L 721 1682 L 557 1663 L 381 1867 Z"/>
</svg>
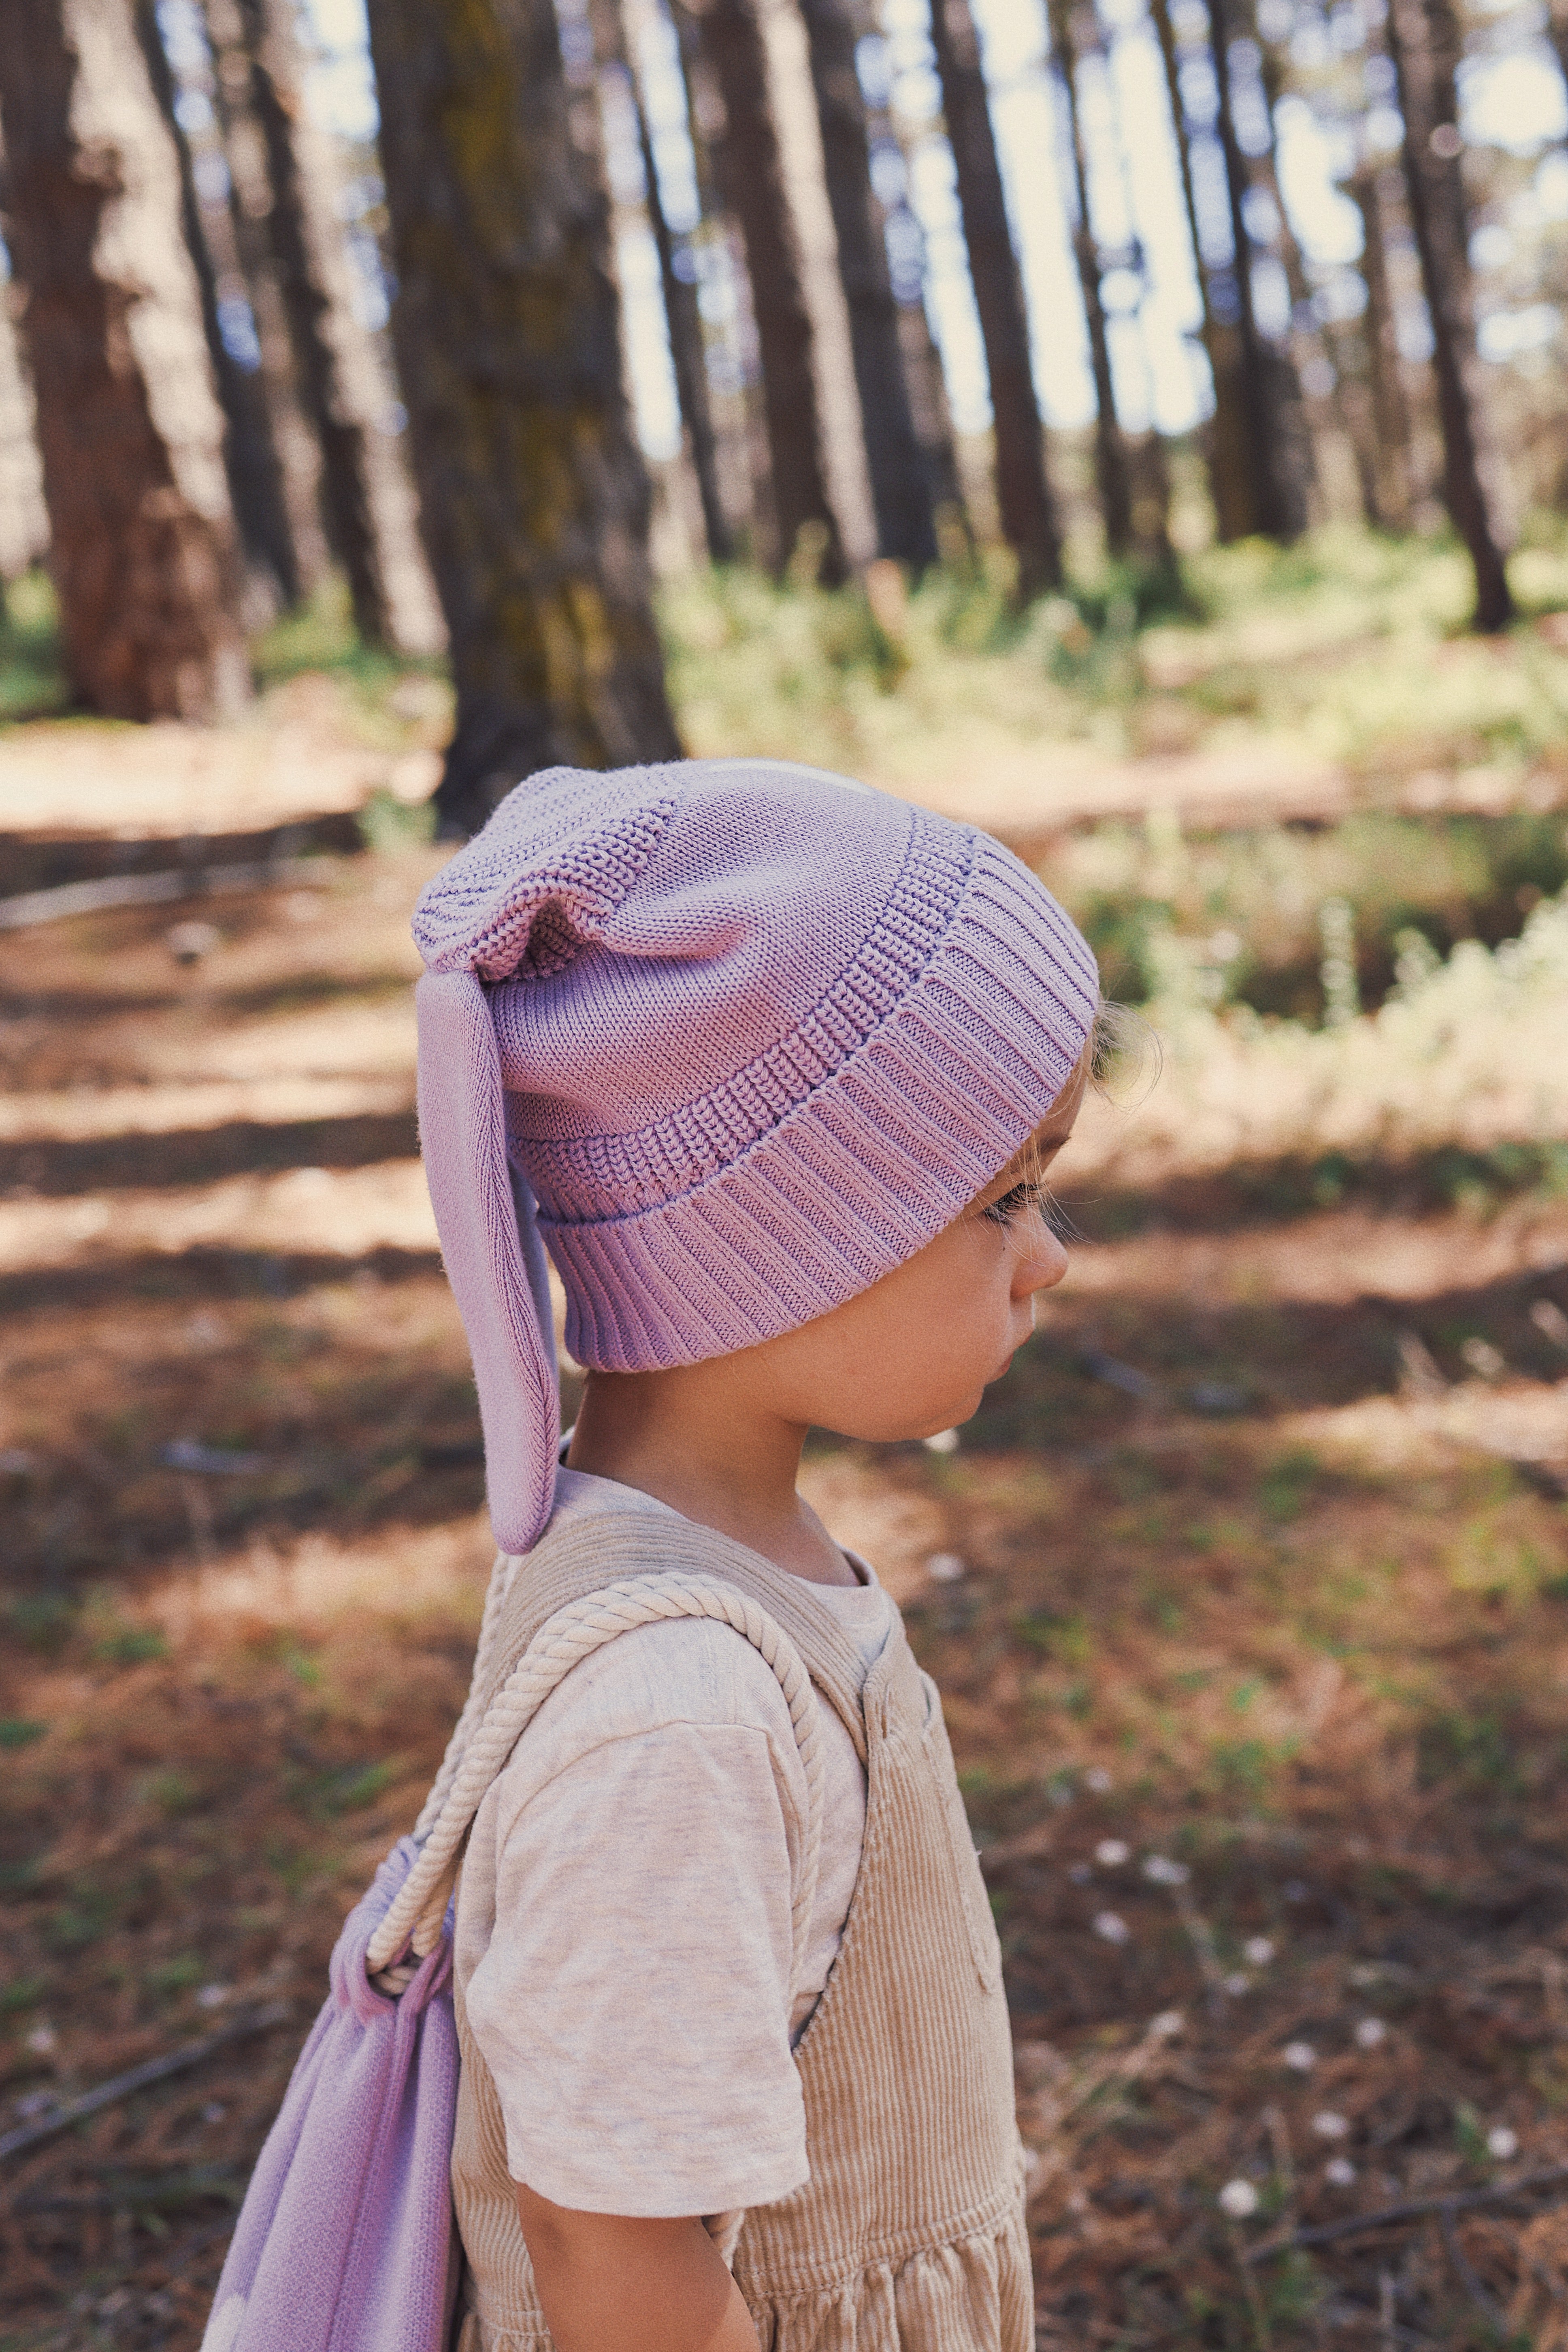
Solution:
<svg viewBox="0 0 1568 2352">
<path fill-rule="evenodd" d="M 717 1364 L 590 1371 L 567 1461 L 733 1536 L 790 1576 L 853 1585 L 856 1571 L 795 1491 L 804 1442 L 804 1425 L 726 1392 Z"/>
</svg>

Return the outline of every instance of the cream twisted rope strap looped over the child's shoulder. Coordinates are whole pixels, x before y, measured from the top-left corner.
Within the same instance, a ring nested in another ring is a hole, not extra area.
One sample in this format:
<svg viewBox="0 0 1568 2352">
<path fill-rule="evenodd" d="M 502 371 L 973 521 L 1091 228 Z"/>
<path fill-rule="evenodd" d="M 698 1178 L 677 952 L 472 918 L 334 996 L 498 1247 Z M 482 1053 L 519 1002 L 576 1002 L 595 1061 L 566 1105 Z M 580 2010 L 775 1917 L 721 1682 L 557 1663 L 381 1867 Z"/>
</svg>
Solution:
<svg viewBox="0 0 1568 2352">
<path fill-rule="evenodd" d="M 496 1562 L 480 1630 L 475 1693 L 484 1689 L 484 1651 L 494 1646 L 503 1599 L 503 1562 Z M 823 1755 L 811 1677 L 795 1644 L 759 1602 L 750 1599 L 736 1585 L 722 1583 L 717 1576 L 693 1576 L 679 1569 L 658 1576 L 628 1576 L 621 1583 L 604 1585 L 602 1592 L 588 1592 L 583 1599 L 569 1602 L 541 1625 L 482 1715 L 477 1698 L 470 1693 L 425 1811 L 418 1818 L 416 1837 L 423 1835 L 418 1860 L 369 1940 L 364 1966 L 371 1976 L 397 1959 L 409 1940 L 421 1959 L 435 1950 L 473 1818 L 484 1802 L 487 1788 L 505 1766 L 512 1748 L 550 1691 L 604 1642 L 614 1642 L 637 1625 L 656 1625 L 668 1618 L 710 1618 L 733 1628 L 778 1677 L 778 1689 L 790 1710 L 795 1745 L 806 1771 L 809 1802 L 806 1851 L 790 1907 L 795 1940 L 790 1980 L 792 1987 L 799 1983 L 823 1851 Z"/>
</svg>

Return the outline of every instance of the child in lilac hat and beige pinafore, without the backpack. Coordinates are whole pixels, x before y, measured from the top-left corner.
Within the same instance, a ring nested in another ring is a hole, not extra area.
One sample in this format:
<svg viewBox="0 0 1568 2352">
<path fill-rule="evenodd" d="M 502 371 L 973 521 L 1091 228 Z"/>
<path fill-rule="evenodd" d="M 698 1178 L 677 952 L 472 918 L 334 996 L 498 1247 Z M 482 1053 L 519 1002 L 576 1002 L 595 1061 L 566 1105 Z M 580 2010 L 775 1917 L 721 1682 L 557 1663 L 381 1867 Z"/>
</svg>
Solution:
<svg viewBox="0 0 1568 2352">
<path fill-rule="evenodd" d="M 1037 1185 L 1093 957 L 987 835 L 762 760 L 531 779 L 416 938 L 430 1192 L 527 1555 L 489 1686 L 630 1576 L 719 1578 L 769 1628 L 607 1642 L 480 1806 L 458 2347 L 1027 2352 L 1001 1964 L 940 1705 L 795 1479 L 813 1425 L 964 1421 L 1060 1282 Z M 541 1235 L 588 1367 L 559 1470 Z M 795 1717 L 771 1628 L 811 1675 Z"/>
</svg>

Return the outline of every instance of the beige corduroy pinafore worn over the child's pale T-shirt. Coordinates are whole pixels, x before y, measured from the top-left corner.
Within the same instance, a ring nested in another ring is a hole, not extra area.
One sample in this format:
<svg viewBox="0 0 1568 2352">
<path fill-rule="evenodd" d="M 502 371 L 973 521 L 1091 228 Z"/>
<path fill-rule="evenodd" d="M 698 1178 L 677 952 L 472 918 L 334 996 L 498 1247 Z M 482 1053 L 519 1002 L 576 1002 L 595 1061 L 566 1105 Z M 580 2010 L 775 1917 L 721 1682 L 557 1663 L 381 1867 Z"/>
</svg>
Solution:
<svg viewBox="0 0 1568 2352">
<path fill-rule="evenodd" d="M 867 1766 L 844 1943 L 795 2053 L 811 2178 L 752 2209 L 733 2256 L 762 2352 L 1030 2352 L 1001 1952 L 936 1684 L 898 1618 L 860 1691 L 851 1644 L 802 1578 L 689 1519 L 595 1515 L 545 1534 L 520 1564 L 494 1686 L 557 1609 L 670 1569 L 717 1576 L 766 1609 Z M 456 2006 L 458 2352 L 550 2352 L 501 2100 L 461 1992 Z"/>
</svg>

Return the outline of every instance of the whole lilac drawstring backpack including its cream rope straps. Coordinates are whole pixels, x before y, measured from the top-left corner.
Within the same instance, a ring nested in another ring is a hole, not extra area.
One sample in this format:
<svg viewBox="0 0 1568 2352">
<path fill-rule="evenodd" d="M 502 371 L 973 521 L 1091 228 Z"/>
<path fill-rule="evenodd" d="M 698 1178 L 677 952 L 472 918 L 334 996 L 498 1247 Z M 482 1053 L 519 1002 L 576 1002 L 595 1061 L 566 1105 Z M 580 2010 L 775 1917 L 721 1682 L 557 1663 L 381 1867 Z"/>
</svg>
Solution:
<svg viewBox="0 0 1568 2352">
<path fill-rule="evenodd" d="M 684 1571 L 632 1576 L 557 1609 L 484 1705 L 517 1564 L 505 1552 L 496 1559 L 468 1705 L 414 1835 L 397 1839 L 343 1922 L 331 1994 L 256 2159 L 202 2352 L 444 2352 L 463 2270 L 451 2211 L 451 1889 L 463 1839 L 550 1691 L 635 1625 L 719 1618 L 778 1675 L 811 1797 L 792 1896 L 799 1983 L 823 1842 L 823 1759 L 811 1679 L 788 1637 L 731 1585 Z M 402 1987 L 397 1997 L 376 1990 L 381 1971 Z"/>
</svg>

